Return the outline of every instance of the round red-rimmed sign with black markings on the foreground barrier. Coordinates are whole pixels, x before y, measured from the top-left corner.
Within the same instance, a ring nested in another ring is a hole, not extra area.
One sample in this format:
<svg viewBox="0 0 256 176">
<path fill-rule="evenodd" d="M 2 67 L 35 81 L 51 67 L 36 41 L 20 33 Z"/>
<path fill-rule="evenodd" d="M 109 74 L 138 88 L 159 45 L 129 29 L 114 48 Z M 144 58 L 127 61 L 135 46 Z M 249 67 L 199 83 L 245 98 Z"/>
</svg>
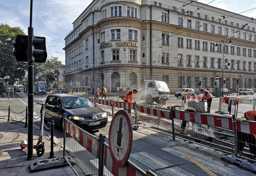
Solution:
<svg viewBox="0 0 256 176">
<path fill-rule="evenodd" d="M 132 122 L 126 111 L 120 110 L 114 115 L 108 133 L 108 143 L 116 165 L 124 166 L 132 149 Z"/>
</svg>

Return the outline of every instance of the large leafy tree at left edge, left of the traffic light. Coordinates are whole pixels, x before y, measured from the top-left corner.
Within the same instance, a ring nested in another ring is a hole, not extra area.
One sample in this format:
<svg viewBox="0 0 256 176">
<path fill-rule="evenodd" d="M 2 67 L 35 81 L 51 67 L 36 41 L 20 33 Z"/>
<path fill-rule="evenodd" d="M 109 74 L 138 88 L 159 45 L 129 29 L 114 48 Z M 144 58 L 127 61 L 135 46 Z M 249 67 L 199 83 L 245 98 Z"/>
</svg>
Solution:
<svg viewBox="0 0 256 176">
<path fill-rule="evenodd" d="M 15 81 L 22 80 L 28 68 L 27 62 L 17 62 L 14 57 L 13 44 L 17 35 L 25 35 L 20 27 L 0 24 L 0 77 L 4 78 L 6 75 L 10 75 L 10 79 Z"/>
</svg>

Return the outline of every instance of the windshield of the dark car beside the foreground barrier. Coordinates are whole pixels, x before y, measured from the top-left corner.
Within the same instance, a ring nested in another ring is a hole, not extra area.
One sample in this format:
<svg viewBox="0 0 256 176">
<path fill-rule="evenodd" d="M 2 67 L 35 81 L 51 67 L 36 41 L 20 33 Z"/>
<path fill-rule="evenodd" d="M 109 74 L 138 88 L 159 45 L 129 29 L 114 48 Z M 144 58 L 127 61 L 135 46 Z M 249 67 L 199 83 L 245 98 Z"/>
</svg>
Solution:
<svg viewBox="0 0 256 176">
<path fill-rule="evenodd" d="M 63 97 L 62 103 L 65 109 L 94 107 L 94 104 L 84 97 Z"/>
</svg>

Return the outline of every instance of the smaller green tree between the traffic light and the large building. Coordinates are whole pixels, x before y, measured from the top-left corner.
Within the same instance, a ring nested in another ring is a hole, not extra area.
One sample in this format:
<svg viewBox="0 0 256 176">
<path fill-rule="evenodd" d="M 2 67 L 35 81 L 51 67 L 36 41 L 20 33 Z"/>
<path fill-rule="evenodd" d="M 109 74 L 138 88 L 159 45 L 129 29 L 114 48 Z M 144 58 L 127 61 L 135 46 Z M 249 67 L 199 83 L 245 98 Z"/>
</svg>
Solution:
<svg viewBox="0 0 256 176">
<path fill-rule="evenodd" d="M 46 81 L 47 87 L 49 83 L 53 83 L 60 75 L 58 66 L 61 61 L 58 61 L 58 57 L 48 57 L 45 63 L 35 63 L 36 68 L 34 74 L 38 77 L 38 81 Z"/>
</svg>

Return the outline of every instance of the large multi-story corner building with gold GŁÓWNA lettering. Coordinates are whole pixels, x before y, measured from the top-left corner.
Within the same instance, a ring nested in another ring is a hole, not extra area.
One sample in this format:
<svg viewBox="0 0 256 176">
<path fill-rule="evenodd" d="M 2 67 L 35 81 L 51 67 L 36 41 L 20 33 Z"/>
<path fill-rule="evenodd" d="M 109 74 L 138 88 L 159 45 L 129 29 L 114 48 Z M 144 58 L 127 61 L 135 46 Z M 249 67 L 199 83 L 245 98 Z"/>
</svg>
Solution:
<svg viewBox="0 0 256 176">
<path fill-rule="evenodd" d="M 65 37 L 66 85 L 256 88 L 256 20 L 190 0 L 94 0 Z M 222 85 L 223 81 L 226 81 Z"/>
</svg>

